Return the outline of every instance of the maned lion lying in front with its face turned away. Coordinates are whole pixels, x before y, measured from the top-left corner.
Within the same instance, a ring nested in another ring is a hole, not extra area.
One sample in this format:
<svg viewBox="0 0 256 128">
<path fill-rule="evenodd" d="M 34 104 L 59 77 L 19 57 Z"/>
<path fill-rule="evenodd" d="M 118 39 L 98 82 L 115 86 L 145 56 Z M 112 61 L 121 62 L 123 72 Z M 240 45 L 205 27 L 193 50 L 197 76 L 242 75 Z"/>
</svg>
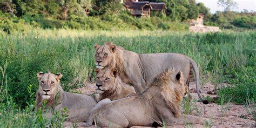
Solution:
<svg viewBox="0 0 256 128">
<path fill-rule="evenodd" d="M 158 75 L 142 95 L 110 101 L 103 99 L 90 112 L 86 126 L 93 120 L 97 126 L 131 127 L 152 126 L 155 122 L 166 125 L 204 124 L 206 119 L 181 116 L 180 102 L 186 92 L 183 73 L 167 70 Z"/>
</svg>

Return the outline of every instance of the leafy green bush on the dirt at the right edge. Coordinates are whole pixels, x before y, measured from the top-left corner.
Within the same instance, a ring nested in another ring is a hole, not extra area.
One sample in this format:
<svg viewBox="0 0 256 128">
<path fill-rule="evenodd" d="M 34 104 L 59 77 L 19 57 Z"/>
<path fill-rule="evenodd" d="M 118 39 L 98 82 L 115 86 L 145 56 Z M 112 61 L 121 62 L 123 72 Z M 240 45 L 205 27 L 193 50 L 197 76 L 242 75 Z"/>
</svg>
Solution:
<svg viewBox="0 0 256 128">
<path fill-rule="evenodd" d="M 224 102 L 229 100 L 236 104 L 256 103 L 256 69 L 248 66 L 230 73 L 234 78 L 230 78 L 228 85 L 218 91 L 219 96 L 225 96 Z"/>
</svg>

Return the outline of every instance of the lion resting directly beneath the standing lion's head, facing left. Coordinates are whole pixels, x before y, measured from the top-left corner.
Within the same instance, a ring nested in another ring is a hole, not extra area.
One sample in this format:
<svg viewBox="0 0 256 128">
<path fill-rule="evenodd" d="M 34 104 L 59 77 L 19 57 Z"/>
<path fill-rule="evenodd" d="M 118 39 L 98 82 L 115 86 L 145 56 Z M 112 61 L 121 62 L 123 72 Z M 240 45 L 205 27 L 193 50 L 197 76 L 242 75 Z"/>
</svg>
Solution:
<svg viewBox="0 0 256 128">
<path fill-rule="evenodd" d="M 134 87 L 122 82 L 117 76 L 116 69 L 95 69 L 97 76 L 96 92 L 99 94 L 99 100 L 109 98 L 110 100 L 117 100 L 129 96 L 136 95 Z"/>
</svg>

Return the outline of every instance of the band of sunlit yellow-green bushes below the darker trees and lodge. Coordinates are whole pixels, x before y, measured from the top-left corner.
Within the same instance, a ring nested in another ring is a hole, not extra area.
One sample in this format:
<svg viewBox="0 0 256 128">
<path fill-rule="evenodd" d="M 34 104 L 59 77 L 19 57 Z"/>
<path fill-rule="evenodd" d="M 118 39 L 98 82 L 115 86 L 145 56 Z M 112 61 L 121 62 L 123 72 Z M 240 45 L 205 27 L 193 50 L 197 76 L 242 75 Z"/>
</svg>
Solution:
<svg viewBox="0 0 256 128">
<path fill-rule="evenodd" d="M 2 15 L 5 16 L 5 14 Z M 0 28 L 8 33 L 17 30 L 24 31 L 26 26 L 44 29 L 70 28 L 82 30 L 188 30 L 187 24 L 172 22 L 164 16 L 161 18 L 136 18 L 130 16 L 126 11 L 121 11 L 117 16 L 106 15 L 104 17 L 70 15 L 66 21 L 47 18 L 43 14 L 24 15 L 22 18 L 10 17 L 0 22 Z"/>
</svg>

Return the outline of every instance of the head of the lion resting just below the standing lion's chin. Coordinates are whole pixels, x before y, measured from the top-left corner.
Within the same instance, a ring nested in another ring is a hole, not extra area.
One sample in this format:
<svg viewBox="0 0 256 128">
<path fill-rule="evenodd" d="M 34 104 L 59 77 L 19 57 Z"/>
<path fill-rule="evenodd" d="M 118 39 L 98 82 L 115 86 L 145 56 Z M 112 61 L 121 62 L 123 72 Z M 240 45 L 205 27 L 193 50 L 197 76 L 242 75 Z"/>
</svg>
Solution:
<svg viewBox="0 0 256 128">
<path fill-rule="evenodd" d="M 97 83 L 96 83 L 97 93 L 104 93 L 106 91 L 113 92 L 113 90 L 116 89 L 116 84 L 115 84 L 117 82 L 116 69 L 109 70 L 105 68 L 104 70 L 100 70 L 96 68 L 95 73 L 97 76 Z"/>
</svg>

